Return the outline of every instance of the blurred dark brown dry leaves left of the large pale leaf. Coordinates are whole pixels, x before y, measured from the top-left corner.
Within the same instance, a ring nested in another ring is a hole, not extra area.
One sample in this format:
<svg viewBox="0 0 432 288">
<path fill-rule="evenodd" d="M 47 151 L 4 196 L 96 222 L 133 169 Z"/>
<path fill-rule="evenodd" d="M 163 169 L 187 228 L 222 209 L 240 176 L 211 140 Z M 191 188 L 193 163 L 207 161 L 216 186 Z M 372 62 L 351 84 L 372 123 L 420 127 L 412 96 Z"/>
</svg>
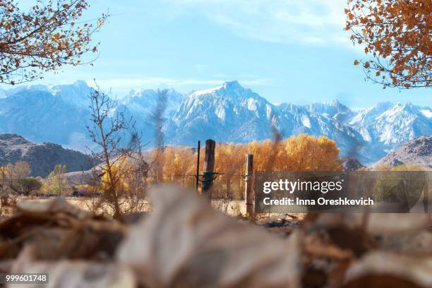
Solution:
<svg viewBox="0 0 432 288">
<path fill-rule="evenodd" d="M 0 257 L 15 258 L 21 247 L 32 244 L 40 260 L 112 258 L 126 227 L 91 216 L 64 199 L 24 204 L 0 222 Z"/>
</svg>

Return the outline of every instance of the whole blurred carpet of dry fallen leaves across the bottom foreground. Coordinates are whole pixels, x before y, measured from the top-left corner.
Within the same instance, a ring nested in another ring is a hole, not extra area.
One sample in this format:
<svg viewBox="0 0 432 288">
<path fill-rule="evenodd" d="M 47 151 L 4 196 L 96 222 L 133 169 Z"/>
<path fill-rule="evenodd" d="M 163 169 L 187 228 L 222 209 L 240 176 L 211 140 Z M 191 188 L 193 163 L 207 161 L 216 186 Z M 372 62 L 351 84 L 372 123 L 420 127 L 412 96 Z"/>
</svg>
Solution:
<svg viewBox="0 0 432 288">
<path fill-rule="evenodd" d="M 251 224 L 180 188 L 151 197 L 134 224 L 61 198 L 21 203 L 0 221 L 0 272 L 48 272 L 49 287 L 432 287 L 431 215 Z"/>
</svg>

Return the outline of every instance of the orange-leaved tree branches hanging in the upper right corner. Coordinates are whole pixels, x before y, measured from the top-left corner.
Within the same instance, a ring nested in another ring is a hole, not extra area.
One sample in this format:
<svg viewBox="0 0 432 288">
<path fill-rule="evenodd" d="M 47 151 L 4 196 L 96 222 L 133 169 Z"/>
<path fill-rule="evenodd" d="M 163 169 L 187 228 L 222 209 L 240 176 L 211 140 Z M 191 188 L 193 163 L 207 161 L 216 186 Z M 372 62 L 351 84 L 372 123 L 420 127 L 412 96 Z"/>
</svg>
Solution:
<svg viewBox="0 0 432 288">
<path fill-rule="evenodd" d="M 383 88 L 431 85 L 431 0 L 349 0 L 346 30 L 371 59 L 358 61 Z"/>
</svg>

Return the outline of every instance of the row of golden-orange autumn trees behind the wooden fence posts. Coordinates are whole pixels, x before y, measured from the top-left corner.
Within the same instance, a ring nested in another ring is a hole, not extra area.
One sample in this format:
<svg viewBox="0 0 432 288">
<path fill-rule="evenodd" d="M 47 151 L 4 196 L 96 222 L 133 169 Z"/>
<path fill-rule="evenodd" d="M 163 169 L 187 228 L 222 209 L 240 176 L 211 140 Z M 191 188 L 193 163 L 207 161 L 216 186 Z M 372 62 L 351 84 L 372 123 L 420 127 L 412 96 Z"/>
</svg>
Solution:
<svg viewBox="0 0 432 288">
<path fill-rule="evenodd" d="M 200 151 L 203 172 L 204 148 Z M 340 171 L 342 160 L 335 141 L 301 134 L 273 142 L 265 140 L 248 144 L 217 143 L 215 148 L 215 187 L 220 195 L 241 198 L 244 190 L 245 155 L 254 155 L 256 171 Z M 152 152 L 150 181 L 176 181 L 193 187 L 196 174 L 196 152 L 191 148 L 169 147 Z M 213 195 L 217 195 L 213 193 Z"/>
</svg>

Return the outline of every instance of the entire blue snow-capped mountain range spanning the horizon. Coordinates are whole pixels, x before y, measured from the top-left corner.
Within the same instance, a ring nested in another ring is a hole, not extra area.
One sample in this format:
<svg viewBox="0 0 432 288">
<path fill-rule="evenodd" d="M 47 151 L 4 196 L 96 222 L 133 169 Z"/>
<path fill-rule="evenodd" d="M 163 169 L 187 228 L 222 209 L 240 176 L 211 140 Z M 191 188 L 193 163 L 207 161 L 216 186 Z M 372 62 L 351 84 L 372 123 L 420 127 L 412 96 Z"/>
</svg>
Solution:
<svg viewBox="0 0 432 288">
<path fill-rule="evenodd" d="M 91 91 L 82 80 L 0 91 L 0 133 L 84 150 L 90 145 L 85 126 Z M 153 114 L 158 104 L 157 90 L 133 90 L 116 109 L 133 116 L 143 140 L 150 142 L 155 138 Z M 246 143 L 272 138 L 276 129 L 283 137 L 327 136 L 337 142 L 342 157 L 370 164 L 416 136 L 432 135 L 432 106 L 383 102 L 354 110 L 337 100 L 273 104 L 237 81 L 188 94 L 167 90 L 164 106 L 162 132 L 167 145 L 196 145 L 206 138 Z"/>
</svg>

